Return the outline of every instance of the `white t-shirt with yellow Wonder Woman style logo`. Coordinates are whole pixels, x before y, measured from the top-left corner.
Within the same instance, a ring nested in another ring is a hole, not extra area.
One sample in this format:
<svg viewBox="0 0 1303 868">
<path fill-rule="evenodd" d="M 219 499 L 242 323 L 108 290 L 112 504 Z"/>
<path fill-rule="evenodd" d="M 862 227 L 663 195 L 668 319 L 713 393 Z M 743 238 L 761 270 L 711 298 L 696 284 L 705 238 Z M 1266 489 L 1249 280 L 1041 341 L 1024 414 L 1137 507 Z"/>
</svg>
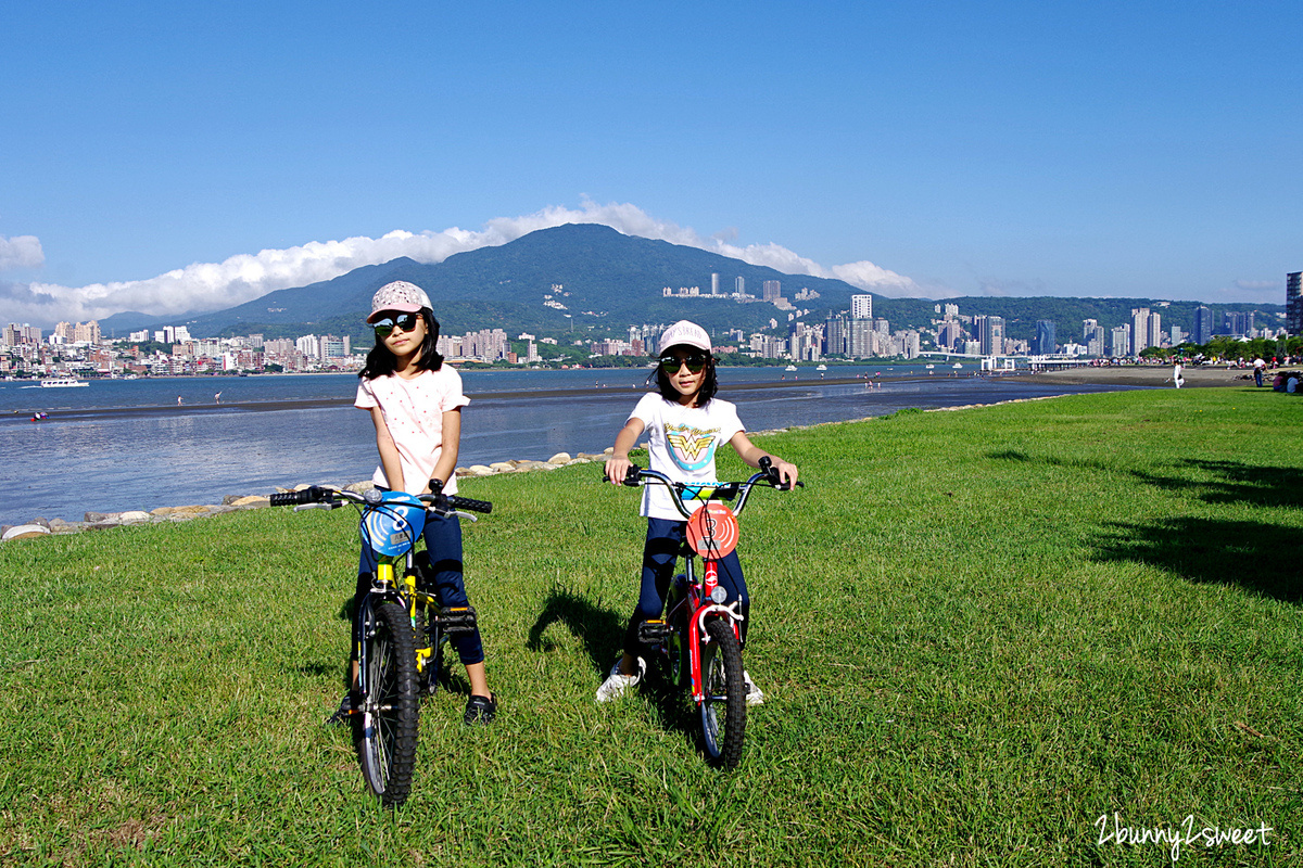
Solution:
<svg viewBox="0 0 1303 868">
<path fill-rule="evenodd" d="M 711 398 L 705 407 L 685 407 L 650 393 L 642 396 L 629 419 L 640 419 L 646 426 L 652 470 L 676 483 L 718 481 L 715 450 L 739 431 L 745 431 L 737 409 L 719 398 Z M 701 504 L 688 501 L 684 505 L 696 511 Z M 641 515 L 683 521 L 663 485 L 644 485 Z"/>
</svg>

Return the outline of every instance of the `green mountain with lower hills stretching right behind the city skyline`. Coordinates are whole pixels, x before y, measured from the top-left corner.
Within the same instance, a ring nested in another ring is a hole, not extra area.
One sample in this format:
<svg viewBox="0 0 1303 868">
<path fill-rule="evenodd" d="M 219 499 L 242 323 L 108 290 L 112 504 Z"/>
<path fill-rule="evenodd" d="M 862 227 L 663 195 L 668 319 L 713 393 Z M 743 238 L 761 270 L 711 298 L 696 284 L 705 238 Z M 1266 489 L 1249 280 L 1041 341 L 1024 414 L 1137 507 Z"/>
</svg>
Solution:
<svg viewBox="0 0 1303 868">
<path fill-rule="evenodd" d="M 822 321 L 830 311 L 848 310 L 851 295 L 865 294 L 839 280 L 786 275 L 696 247 L 624 236 L 610 226 L 567 224 L 533 232 L 506 245 L 455 254 L 442 263 L 421 264 L 401 258 L 366 265 L 334 280 L 278 290 L 212 314 L 150 318 L 149 321 L 120 314 L 103 320 L 100 327 L 106 332 L 122 333 L 128 328 L 185 323 L 195 336 L 259 332 L 267 337 L 297 337 L 315 332 L 352 334 L 369 344 L 364 320 L 370 312 L 371 295 L 391 280 L 409 280 L 430 295 L 444 333 L 504 328 L 512 337 L 520 331 L 555 337 L 590 331 L 605 334 L 607 329 L 620 334 L 631 324 L 679 319 L 692 319 L 717 332 L 740 328 L 748 333 L 767 328 L 773 320 L 786 331 L 788 312 L 770 303 L 667 298 L 662 293 L 666 286 L 671 290 L 697 286 L 709 294 L 711 273 L 719 275 L 721 293 L 734 292 L 739 277 L 745 281 L 747 293 L 757 297 L 765 281 L 779 281 L 788 301 L 810 311 L 803 318 L 809 323 Z M 795 301 L 801 289 L 818 293 L 818 298 Z M 869 294 L 874 315 L 886 318 L 893 329 L 926 325 L 936 316 L 938 302 Z M 547 297 L 564 310 L 546 306 Z M 1057 297 L 952 298 L 945 303 L 958 305 L 966 315 L 1003 316 L 1009 321 L 1006 334 L 1014 338 L 1032 337 L 1037 319 L 1052 319 L 1061 342 L 1081 333 L 1083 319 L 1096 319 L 1111 328 L 1130 321 L 1134 307 L 1158 310 L 1165 328 L 1175 323 L 1188 332 L 1199 306 L 1197 302 Z M 1283 307 L 1214 306 L 1218 314 L 1224 310 L 1257 310 L 1273 315 Z"/>
</svg>

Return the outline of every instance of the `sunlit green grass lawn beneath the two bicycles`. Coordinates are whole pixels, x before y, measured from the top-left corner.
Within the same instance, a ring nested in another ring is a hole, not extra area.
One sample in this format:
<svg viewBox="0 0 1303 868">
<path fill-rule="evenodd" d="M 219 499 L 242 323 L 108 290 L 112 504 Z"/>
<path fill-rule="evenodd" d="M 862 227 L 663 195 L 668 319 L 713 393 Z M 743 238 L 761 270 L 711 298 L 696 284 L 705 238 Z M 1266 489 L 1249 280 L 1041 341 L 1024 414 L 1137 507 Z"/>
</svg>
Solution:
<svg viewBox="0 0 1303 868">
<path fill-rule="evenodd" d="M 499 720 L 426 700 L 392 815 L 322 726 L 351 509 L 0 547 L 0 864 L 1170 865 L 1101 817 L 1187 816 L 1269 846 L 1177 864 L 1303 861 L 1303 401 L 1130 392 L 760 441 L 809 487 L 741 521 L 769 700 L 732 773 L 676 696 L 593 703 L 645 530 L 597 466 L 464 483 L 495 504 L 465 548 Z"/>
</svg>

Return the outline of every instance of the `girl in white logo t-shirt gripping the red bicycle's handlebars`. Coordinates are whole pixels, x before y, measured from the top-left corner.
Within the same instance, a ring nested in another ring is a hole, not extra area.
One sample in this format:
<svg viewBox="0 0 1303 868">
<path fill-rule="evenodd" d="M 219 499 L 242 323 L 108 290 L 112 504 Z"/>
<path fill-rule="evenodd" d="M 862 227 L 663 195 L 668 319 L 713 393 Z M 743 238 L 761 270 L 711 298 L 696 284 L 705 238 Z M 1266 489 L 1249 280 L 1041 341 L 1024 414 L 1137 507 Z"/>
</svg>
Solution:
<svg viewBox="0 0 1303 868">
<path fill-rule="evenodd" d="M 659 394 L 645 394 L 633 407 L 628 422 L 615 435 L 615 448 L 606 462 L 606 476 L 619 485 L 629 472 L 629 449 L 644 432 L 648 435 L 649 463 L 672 481 L 710 483 L 715 479 L 715 450 L 728 444 L 747 465 L 760 466 L 760 459 L 773 461 L 783 481 L 795 487 L 797 470 L 778 455 L 756 446 L 737 418 L 737 409 L 714 397 L 719 388 L 715 359 L 710 354 L 710 336 L 696 323 L 680 320 L 661 336 L 661 357 L 655 368 Z M 705 501 L 689 501 L 697 508 Z M 688 522 L 674 508 L 670 492 L 659 487 L 642 489 L 640 514 L 648 519 L 646 543 L 642 547 L 642 578 L 638 604 L 624 631 L 624 653 L 611 666 L 597 701 L 607 703 L 622 696 L 642 681 L 648 653 L 638 642 L 638 626 L 661 617 L 665 595 L 670 590 L 679 547 Z M 751 597 L 737 553 L 730 552 L 719 561 L 719 586 L 728 601 L 741 604 L 741 643 L 747 643 L 751 623 Z M 743 671 L 747 704 L 758 705 L 765 694 Z"/>
</svg>

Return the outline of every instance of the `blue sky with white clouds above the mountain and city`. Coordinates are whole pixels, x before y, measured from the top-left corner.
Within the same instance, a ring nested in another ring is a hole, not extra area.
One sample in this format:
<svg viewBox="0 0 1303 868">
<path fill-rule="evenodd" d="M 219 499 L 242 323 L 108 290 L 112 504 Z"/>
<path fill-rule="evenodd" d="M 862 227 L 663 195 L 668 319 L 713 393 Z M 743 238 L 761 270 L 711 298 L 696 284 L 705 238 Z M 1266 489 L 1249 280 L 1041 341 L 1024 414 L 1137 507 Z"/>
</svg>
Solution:
<svg viewBox="0 0 1303 868">
<path fill-rule="evenodd" d="M 1282 303 L 1303 268 L 1298 3 L 51 0 L 0 33 L 4 321 L 567 220 L 889 295 Z"/>
</svg>

